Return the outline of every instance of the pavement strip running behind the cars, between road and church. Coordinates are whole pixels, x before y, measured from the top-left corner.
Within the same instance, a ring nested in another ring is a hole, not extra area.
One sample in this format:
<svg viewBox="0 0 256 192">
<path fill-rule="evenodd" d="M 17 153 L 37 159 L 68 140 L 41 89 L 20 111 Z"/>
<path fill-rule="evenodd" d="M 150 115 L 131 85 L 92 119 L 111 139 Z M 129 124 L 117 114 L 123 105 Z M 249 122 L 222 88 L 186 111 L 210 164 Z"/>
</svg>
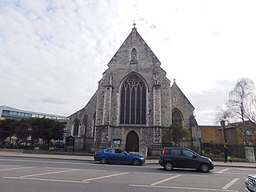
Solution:
<svg viewBox="0 0 256 192">
<path fill-rule="evenodd" d="M 26 150 L 5 150 L 0 149 L 0 157 L 18 157 L 18 158 L 50 158 L 50 159 L 66 159 L 79 161 L 94 161 L 93 154 L 34 154 L 28 153 Z M 158 164 L 158 159 L 146 159 L 147 164 Z M 256 168 L 256 162 L 214 162 L 214 166 L 234 166 Z"/>
</svg>

